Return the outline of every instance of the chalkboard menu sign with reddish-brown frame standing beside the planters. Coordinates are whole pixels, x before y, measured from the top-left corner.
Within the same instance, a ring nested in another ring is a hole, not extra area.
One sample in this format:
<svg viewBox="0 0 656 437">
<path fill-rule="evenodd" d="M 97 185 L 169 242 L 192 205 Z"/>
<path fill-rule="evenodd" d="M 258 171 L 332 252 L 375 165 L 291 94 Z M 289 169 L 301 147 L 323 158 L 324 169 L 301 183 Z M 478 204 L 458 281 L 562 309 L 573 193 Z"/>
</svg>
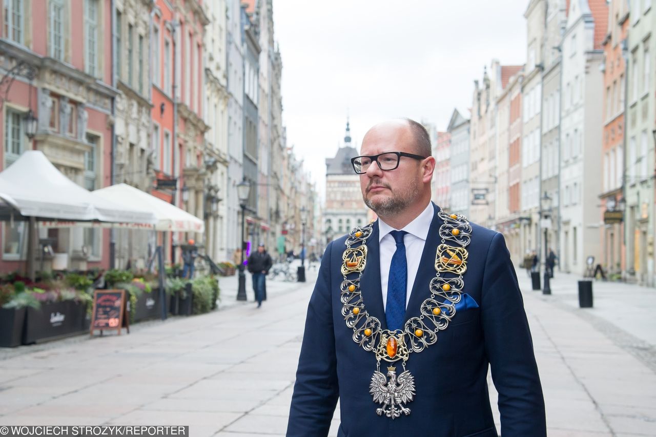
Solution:
<svg viewBox="0 0 656 437">
<path fill-rule="evenodd" d="M 127 293 L 125 290 L 96 290 L 93 293 L 93 312 L 91 313 L 91 336 L 100 329 L 110 331 L 116 329 L 121 335 L 125 327 L 130 333 L 127 314 Z"/>
</svg>

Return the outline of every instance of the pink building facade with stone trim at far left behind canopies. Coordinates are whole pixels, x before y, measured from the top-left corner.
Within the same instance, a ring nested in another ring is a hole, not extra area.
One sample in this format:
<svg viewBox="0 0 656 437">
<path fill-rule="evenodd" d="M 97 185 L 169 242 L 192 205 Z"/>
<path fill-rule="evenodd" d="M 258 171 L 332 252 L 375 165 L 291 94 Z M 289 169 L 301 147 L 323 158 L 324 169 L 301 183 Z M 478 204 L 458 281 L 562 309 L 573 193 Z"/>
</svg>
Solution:
<svg viewBox="0 0 656 437">
<path fill-rule="evenodd" d="M 0 169 L 26 150 L 41 150 L 64 175 L 89 190 L 112 180 L 112 10 L 102 0 L 3 0 L 0 73 Z M 31 110 L 36 135 L 21 123 Z M 38 229 L 68 268 L 108 268 L 109 231 Z M 24 268 L 26 224 L 2 224 L 0 271 Z"/>
</svg>

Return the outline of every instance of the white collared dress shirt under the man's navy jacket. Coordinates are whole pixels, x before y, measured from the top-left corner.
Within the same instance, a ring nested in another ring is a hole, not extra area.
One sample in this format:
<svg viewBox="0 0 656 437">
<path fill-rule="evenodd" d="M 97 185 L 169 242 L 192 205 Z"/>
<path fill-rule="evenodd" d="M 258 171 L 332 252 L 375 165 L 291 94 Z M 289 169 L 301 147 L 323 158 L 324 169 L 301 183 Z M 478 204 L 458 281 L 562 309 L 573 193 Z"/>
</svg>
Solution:
<svg viewBox="0 0 656 437">
<path fill-rule="evenodd" d="M 403 237 L 405 244 L 405 260 L 407 262 L 408 282 L 405 285 L 405 307 L 407 308 L 408 301 L 410 301 L 410 293 L 412 286 L 417 277 L 417 270 L 419 269 L 419 261 L 421 254 L 424 252 L 424 245 L 426 245 L 426 237 L 428 236 L 428 228 L 433 221 L 435 211 L 433 210 L 433 203 L 428 202 L 426 209 L 418 215 L 415 220 L 409 222 L 405 228 L 399 229 L 407 232 Z M 395 230 L 386 222 L 378 220 L 379 226 L 379 247 L 380 247 L 380 285 L 382 287 L 382 307 L 387 307 L 387 283 L 390 279 L 390 264 L 392 263 L 392 255 L 396 252 L 396 241 L 390 235 L 390 232 Z"/>
</svg>

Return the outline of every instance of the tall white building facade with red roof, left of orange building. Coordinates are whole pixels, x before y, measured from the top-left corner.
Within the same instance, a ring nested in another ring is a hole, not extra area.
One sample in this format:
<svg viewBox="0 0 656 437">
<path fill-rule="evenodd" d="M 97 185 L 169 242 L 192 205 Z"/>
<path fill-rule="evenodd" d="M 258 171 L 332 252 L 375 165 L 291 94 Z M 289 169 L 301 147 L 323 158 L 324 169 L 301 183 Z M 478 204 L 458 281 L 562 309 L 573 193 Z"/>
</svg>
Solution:
<svg viewBox="0 0 656 437">
<path fill-rule="evenodd" d="M 561 267 L 585 274 L 586 260 L 600 259 L 599 210 L 595 202 L 602 183 L 603 61 L 607 26 L 603 0 L 571 1 L 562 39 L 560 121 L 560 193 L 562 196 Z"/>
</svg>

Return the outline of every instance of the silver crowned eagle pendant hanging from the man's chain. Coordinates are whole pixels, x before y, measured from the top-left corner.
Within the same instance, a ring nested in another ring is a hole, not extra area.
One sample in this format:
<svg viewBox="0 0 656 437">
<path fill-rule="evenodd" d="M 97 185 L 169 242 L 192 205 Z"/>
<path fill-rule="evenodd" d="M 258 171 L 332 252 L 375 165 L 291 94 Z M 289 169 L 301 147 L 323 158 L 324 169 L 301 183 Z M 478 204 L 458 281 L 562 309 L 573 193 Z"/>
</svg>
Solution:
<svg viewBox="0 0 656 437">
<path fill-rule="evenodd" d="M 387 368 L 387 377 L 375 371 L 371 377 L 369 393 L 373 396 L 373 402 L 382 404 L 382 407 L 376 409 L 379 416 L 384 414 L 395 419 L 401 413 L 409 415 L 410 409 L 403 404 L 411 402 L 415 396 L 415 377 L 407 370 L 397 377 L 395 367 Z"/>
</svg>

